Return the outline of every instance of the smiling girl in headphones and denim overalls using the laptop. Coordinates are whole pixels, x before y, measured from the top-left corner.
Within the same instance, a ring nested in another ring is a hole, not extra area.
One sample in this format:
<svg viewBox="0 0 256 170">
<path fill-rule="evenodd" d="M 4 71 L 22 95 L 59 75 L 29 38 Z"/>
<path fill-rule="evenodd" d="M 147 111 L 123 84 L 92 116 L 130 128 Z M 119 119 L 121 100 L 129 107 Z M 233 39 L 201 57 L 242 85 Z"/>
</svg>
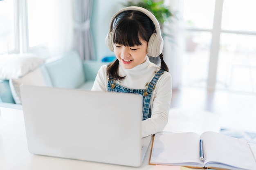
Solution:
<svg viewBox="0 0 256 170">
<path fill-rule="evenodd" d="M 111 20 L 106 44 L 117 59 L 101 66 L 92 91 L 141 94 L 142 137 L 162 131 L 168 121 L 172 79 L 163 60 L 157 19 L 141 7 L 121 9 Z M 159 55 L 161 66 L 150 62 L 147 55 Z"/>
</svg>

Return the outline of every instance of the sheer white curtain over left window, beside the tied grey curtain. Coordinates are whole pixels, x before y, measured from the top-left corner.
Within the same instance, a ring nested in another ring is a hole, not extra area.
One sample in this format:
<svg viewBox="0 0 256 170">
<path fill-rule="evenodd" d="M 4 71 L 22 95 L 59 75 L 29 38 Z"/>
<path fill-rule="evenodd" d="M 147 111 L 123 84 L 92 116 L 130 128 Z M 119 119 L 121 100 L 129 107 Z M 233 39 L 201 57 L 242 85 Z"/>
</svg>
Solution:
<svg viewBox="0 0 256 170">
<path fill-rule="evenodd" d="M 22 41 L 29 42 L 29 53 L 53 57 L 70 51 L 73 48 L 72 0 L 27 0 L 27 5 L 29 40 Z"/>
</svg>

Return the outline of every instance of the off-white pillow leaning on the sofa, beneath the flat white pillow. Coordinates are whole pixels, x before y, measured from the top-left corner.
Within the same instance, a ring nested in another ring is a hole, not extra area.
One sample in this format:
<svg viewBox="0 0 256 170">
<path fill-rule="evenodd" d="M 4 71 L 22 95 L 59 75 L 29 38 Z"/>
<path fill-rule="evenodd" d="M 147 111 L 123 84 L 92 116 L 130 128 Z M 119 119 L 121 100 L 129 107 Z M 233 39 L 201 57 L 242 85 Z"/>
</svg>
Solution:
<svg viewBox="0 0 256 170">
<path fill-rule="evenodd" d="M 43 75 L 40 71 L 40 68 L 36 68 L 36 70 L 31 71 L 24 77 L 20 79 L 10 79 L 9 80 L 11 93 L 13 95 L 13 99 L 16 104 L 21 104 L 21 97 L 20 97 L 20 85 L 21 84 L 28 84 L 34 86 L 46 86 L 45 80 Z"/>
</svg>

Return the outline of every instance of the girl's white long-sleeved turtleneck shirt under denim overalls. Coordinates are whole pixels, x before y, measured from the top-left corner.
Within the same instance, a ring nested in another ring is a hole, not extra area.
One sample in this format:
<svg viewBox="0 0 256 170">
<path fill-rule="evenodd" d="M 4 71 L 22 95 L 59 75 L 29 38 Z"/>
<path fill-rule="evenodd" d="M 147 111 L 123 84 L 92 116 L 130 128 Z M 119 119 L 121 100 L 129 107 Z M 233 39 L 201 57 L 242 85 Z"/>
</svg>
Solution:
<svg viewBox="0 0 256 170">
<path fill-rule="evenodd" d="M 108 91 L 107 65 L 101 66 L 92 86 L 92 91 Z M 124 80 L 116 81 L 116 84 L 130 89 L 145 89 L 145 86 L 159 70 L 159 66 L 150 62 L 139 64 L 131 69 L 126 69 L 119 64 L 118 74 L 126 76 Z M 168 121 L 168 113 L 171 105 L 172 79 L 170 73 L 164 71 L 159 77 L 150 99 L 151 117 L 142 121 L 141 135 L 146 137 L 164 129 Z M 142 114 L 142 113 L 141 113 Z"/>
</svg>

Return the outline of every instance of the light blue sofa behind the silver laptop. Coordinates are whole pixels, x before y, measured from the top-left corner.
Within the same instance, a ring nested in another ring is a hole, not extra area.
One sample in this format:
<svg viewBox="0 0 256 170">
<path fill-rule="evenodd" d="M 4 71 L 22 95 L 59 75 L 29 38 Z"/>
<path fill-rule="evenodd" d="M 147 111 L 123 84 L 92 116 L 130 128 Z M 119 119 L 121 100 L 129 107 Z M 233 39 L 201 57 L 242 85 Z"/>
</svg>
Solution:
<svg viewBox="0 0 256 170">
<path fill-rule="evenodd" d="M 39 67 L 45 86 L 90 90 L 101 65 L 108 62 L 82 61 L 76 51 L 53 57 Z M 0 79 L 0 106 L 22 108 L 16 104 L 11 80 Z"/>
</svg>

